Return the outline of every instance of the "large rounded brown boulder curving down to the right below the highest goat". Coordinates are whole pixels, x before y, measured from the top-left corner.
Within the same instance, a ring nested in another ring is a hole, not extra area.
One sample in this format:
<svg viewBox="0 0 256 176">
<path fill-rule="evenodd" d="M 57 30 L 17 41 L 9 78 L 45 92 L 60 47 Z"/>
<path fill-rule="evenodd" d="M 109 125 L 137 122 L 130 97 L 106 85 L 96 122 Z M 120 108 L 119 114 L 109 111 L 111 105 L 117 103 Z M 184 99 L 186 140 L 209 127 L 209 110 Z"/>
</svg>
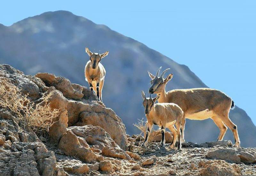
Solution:
<svg viewBox="0 0 256 176">
<path fill-rule="evenodd" d="M 83 103 L 81 106 L 86 105 Z M 84 108 L 83 111 L 84 112 L 79 115 L 80 121 L 75 125 L 84 126 L 91 124 L 93 126 L 100 126 L 110 134 L 111 138 L 120 146 L 120 148 L 123 150 L 126 149 L 127 138 L 125 126 L 112 109 L 95 104 L 88 108 Z"/>
</svg>

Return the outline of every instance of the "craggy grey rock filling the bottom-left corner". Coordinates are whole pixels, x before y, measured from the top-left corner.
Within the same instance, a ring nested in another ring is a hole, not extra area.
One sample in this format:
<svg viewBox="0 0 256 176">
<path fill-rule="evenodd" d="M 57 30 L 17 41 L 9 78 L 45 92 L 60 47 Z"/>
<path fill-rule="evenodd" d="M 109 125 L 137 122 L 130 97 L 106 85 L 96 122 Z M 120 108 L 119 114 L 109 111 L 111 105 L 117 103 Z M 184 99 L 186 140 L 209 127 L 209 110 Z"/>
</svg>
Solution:
<svg viewBox="0 0 256 176">
<path fill-rule="evenodd" d="M 40 142 L 13 142 L 12 150 L 0 151 L 1 175 L 56 175 L 56 158 Z"/>
</svg>

